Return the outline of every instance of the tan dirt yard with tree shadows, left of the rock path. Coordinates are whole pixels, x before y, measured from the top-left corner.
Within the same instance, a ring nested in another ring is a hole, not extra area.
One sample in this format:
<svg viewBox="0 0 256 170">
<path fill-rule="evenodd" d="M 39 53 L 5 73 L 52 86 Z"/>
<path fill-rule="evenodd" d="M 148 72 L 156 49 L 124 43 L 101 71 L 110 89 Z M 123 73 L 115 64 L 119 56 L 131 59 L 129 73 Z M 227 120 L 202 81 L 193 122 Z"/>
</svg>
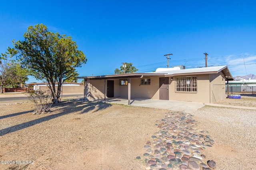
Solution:
<svg viewBox="0 0 256 170">
<path fill-rule="evenodd" d="M 32 115 L 33 109 L 32 103 L 0 106 L 0 160 L 15 160 L 0 164 L 1 170 L 141 169 L 135 158 L 166 112 L 81 100 L 49 114 Z"/>
</svg>

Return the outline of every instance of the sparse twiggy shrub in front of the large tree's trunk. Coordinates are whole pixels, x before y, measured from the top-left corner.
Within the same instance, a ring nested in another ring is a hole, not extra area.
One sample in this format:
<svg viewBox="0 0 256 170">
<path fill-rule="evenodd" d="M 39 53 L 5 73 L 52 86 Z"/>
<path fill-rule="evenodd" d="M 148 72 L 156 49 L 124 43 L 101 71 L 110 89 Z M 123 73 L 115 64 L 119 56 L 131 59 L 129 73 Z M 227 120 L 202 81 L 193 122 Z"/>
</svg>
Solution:
<svg viewBox="0 0 256 170">
<path fill-rule="evenodd" d="M 36 90 L 28 94 L 28 100 L 36 105 L 33 114 L 41 114 L 50 112 L 52 107 L 52 93 L 50 90 Z"/>
</svg>

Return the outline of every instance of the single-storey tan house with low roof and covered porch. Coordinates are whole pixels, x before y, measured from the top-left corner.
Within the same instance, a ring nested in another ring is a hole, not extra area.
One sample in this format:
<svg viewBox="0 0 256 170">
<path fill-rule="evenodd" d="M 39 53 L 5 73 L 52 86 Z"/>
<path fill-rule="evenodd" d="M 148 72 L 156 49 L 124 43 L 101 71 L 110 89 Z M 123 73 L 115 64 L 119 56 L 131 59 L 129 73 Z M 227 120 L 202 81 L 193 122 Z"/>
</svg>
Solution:
<svg viewBox="0 0 256 170">
<path fill-rule="evenodd" d="M 149 73 L 126 73 L 84 78 L 84 98 L 131 98 L 214 103 L 226 98 L 225 81 L 234 80 L 227 66 L 191 69 L 157 69 Z"/>
</svg>

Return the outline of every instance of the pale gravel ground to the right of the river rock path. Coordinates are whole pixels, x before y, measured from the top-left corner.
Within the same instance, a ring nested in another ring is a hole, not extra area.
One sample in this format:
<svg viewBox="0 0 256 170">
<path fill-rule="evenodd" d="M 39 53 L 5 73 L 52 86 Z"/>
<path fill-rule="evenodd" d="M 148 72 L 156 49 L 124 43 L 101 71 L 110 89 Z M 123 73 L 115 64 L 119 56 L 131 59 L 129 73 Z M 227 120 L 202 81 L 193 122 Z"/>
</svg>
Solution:
<svg viewBox="0 0 256 170">
<path fill-rule="evenodd" d="M 205 106 L 192 114 L 214 137 L 206 154 L 218 170 L 256 170 L 256 110 Z"/>
</svg>

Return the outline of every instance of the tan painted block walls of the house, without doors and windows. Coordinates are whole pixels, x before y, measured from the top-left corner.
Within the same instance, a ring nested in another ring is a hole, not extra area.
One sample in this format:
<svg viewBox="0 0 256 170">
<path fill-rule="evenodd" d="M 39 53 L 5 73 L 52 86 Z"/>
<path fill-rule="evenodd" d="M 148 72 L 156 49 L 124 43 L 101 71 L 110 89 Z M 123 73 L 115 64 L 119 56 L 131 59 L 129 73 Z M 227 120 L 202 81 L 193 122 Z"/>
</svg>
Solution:
<svg viewBox="0 0 256 170">
<path fill-rule="evenodd" d="M 191 75 L 190 75 L 191 76 Z M 169 77 L 169 100 L 210 103 L 213 95 L 220 94 L 225 97 L 225 89 L 210 89 L 212 84 L 225 84 L 222 73 L 201 74 L 197 77 L 197 92 L 176 92 L 176 78 L 186 76 Z M 140 78 L 131 78 L 131 98 L 159 99 L 159 78 L 164 76 L 150 76 L 150 85 L 140 85 Z M 193 77 L 193 76 L 192 76 Z M 128 97 L 128 86 L 120 85 L 119 79 L 114 80 L 114 97 Z M 107 81 L 106 81 L 107 82 Z M 85 83 L 86 98 L 88 100 L 104 99 L 104 80 L 89 80 Z M 219 99 L 217 99 L 219 100 Z"/>
</svg>

